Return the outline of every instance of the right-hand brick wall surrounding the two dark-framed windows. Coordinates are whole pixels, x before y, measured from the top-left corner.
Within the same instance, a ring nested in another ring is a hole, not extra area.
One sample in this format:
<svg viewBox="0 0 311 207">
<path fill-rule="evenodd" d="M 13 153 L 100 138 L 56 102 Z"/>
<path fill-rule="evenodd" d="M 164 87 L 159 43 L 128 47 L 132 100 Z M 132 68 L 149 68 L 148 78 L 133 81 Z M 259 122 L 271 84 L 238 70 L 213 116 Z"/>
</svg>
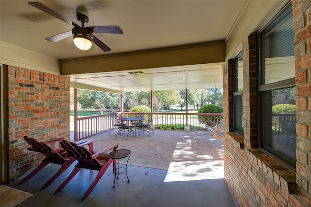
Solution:
<svg viewBox="0 0 311 207">
<path fill-rule="evenodd" d="M 242 43 L 244 138 L 225 120 L 225 180 L 238 206 L 311 206 L 311 1 L 293 0 L 297 108 L 296 172 L 258 148 L 257 37 Z M 232 60 L 224 72 L 224 113 L 231 110 Z"/>
</svg>

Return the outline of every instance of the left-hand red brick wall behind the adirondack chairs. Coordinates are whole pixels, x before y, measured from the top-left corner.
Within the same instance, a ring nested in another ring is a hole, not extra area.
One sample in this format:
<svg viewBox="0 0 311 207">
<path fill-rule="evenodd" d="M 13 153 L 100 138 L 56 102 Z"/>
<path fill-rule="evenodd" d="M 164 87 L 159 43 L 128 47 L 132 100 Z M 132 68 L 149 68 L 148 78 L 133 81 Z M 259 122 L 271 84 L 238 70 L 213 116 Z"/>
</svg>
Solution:
<svg viewBox="0 0 311 207">
<path fill-rule="evenodd" d="M 70 79 L 14 66 L 5 69 L 8 174 L 13 181 L 34 170 L 44 158 L 27 150 L 30 145 L 24 141 L 24 136 L 39 141 L 70 139 Z"/>
</svg>

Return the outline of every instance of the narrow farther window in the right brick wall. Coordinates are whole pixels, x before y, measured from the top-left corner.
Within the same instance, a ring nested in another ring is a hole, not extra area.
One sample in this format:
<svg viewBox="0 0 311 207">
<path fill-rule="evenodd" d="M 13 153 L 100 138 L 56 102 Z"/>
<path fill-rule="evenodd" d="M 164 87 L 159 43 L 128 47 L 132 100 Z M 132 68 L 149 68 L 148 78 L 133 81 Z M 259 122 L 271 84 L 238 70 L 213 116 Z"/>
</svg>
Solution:
<svg viewBox="0 0 311 207">
<path fill-rule="evenodd" d="M 233 59 L 233 128 L 236 133 L 244 137 L 243 130 L 243 58 L 240 52 Z"/>
</svg>

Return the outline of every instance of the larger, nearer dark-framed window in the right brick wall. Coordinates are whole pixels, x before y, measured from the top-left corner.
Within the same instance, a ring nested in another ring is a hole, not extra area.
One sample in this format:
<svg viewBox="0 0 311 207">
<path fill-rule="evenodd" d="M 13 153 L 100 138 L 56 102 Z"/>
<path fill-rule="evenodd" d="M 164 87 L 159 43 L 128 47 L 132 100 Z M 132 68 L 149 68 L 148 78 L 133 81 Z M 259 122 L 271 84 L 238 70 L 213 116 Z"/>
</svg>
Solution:
<svg viewBox="0 0 311 207">
<path fill-rule="evenodd" d="M 292 4 L 259 33 L 260 147 L 295 169 L 296 105 Z"/>
</svg>

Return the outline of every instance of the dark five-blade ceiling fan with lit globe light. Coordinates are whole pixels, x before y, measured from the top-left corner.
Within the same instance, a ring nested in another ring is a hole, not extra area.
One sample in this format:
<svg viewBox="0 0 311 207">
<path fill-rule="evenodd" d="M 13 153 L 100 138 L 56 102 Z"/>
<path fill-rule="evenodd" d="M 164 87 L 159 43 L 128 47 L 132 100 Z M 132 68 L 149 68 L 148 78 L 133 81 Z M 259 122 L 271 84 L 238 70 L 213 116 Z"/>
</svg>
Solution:
<svg viewBox="0 0 311 207">
<path fill-rule="evenodd" d="M 58 42 L 62 39 L 65 39 L 71 35 L 73 35 L 73 42 L 80 50 L 89 50 L 92 47 L 92 42 L 94 42 L 99 48 L 101 48 L 104 52 L 111 51 L 111 49 L 104 44 L 101 40 L 99 40 L 93 33 L 110 33 L 110 34 L 120 34 L 123 35 L 123 31 L 119 26 L 92 26 L 92 27 L 84 27 L 84 24 L 88 22 L 88 17 L 84 14 L 77 13 L 77 19 L 81 22 L 81 27 L 76 23 L 72 22 L 67 17 L 55 12 L 51 8 L 45 6 L 39 2 L 28 2 L 29 5 L 34 6 L 41 11 L 52 15 L 64 22 L 67 22 L 74 26 L 72 31 L 64 32 L 58 35 L 53 35 L 45 38 L 51 42 Z"/>
</svg>

